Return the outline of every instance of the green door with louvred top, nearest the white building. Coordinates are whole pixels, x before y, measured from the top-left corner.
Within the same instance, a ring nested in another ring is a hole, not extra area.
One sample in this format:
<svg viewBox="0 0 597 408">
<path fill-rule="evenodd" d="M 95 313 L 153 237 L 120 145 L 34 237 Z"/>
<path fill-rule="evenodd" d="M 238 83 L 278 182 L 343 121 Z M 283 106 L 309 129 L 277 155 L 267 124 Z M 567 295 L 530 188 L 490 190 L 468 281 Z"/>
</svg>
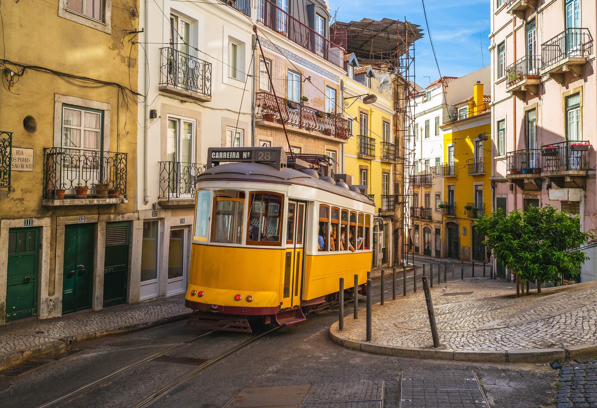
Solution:
<svg viewBox="0 0 597 408">
<path fill-rule="evenodd" d="M 104 308 L 127 302 L 129 222 L 106 224 Z"/>
</svg>

